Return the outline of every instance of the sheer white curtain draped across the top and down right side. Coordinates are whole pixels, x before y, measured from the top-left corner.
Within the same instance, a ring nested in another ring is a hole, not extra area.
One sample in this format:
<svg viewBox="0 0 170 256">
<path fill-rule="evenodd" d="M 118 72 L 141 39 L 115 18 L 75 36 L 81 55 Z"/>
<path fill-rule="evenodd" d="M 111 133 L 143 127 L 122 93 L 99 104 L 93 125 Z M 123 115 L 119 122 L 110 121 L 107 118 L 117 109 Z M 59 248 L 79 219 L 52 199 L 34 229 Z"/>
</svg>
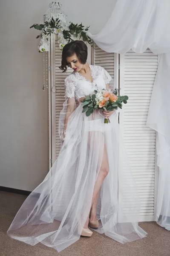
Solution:
<svg viewBox="0 0 170 256">
<path fill-rule="evenodd" d="M 106 52 L 161 54 L 147 126 L 157 131 L 159 166 L 156 221 L 170 230 L 170 1 L 117 0 L 112 15 L 97 34 L 87 34 Z"/>
</svg>

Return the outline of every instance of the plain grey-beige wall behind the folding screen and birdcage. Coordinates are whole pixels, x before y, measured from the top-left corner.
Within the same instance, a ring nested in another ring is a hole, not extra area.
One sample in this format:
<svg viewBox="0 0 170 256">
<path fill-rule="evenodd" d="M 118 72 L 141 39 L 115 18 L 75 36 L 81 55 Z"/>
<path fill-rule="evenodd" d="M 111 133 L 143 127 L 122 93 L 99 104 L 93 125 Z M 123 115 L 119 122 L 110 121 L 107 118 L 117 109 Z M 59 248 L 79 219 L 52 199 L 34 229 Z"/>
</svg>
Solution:
<svg viewBox="0 0 170 256">
<path fill-rule="evenodd" d="M 32 191 L 48 170 L 48 91 L 39 32 L 50 0 L 0 1 L 0 186 Z M 67 20 L 98 33 L 115 2 L 61 0 Z M 105 3 L 105 5 L 104 5 Z"/>
</svg>

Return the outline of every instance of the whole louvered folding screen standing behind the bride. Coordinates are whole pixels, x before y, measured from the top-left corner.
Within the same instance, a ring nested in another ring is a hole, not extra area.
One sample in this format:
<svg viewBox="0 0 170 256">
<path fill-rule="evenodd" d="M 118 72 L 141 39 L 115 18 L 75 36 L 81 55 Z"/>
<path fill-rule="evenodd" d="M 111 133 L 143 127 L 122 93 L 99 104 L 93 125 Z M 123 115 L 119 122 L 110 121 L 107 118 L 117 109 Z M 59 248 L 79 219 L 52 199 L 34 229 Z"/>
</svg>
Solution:
<svg viewBox="0 0 170 256">
<path fill-rule="evenodd" d="M 87 46 L 87 62 L 104 67 L 114 79 L 114 87 L 121 88 L 120 94 L 129 96 L 127 105 L 120 112 L 119 123 L 141 198 L 140 221 L 153 221 L 154 201 L 156 201 L 155 187 L 157 186 L 157 173 L 155 173 L 156 134 L 145 124 L 158 66 L 158 55 L 154 55 L 149 49 L 141 54 L 130 50 L 126 54 L 119 55 L 104 52 L 96 44 L 94 47 L 89 44 Z M 58 157 L 61 147 L 58 135 L 58 119 L 65 101 L 64 79 L 72 72 L 71 69 L 68 69 L 66 73 L 62 73 L 59 69 L 61 54 L 56 36 L 53 35 L 50 53 L 51 78 L 49 79 L 51 165 Z M 128 201 L 130 198 L 127 196 L 124 200 Z"/>
</svg>

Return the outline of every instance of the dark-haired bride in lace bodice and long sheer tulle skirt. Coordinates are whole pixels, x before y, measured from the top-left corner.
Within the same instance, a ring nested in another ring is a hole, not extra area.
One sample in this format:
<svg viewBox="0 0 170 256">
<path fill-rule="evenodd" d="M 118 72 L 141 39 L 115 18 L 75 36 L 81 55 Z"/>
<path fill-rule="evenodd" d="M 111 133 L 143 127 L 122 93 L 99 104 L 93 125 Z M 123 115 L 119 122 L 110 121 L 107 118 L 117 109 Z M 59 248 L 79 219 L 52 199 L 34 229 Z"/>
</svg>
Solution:
<svg viewBox="0 0 170 256">
<path fill-rule="evenodd" d="M 124 244 L 144 238 L 138 226 L 140 198 L 130 170 L 118 110 L 82 113 L 81 100 L 112 81 L 101 66 L 87 63 L 87 47 L 63 47 L 65 101 L 59 117 L 61 150 L 43 182 L 23 202 L 7 234 L 60 252 L 92 230 Z M 104 118 L 110 123 L 105 124 Z M 90 229 L 89 229 L 90 228 Z"/>
</svg>

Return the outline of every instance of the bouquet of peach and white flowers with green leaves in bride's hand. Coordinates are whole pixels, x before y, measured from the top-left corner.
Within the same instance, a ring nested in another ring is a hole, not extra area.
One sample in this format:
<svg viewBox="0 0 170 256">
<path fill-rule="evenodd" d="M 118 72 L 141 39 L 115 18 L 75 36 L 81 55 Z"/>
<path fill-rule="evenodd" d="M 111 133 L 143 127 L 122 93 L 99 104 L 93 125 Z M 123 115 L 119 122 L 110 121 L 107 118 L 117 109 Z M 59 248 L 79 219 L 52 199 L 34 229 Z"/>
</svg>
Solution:
<svg viewBox="0 0 170 256">
<path fill-rule="evenodd" d="M 101 111 L 113 111 L 113 109 L 122 108 L 122 102 L 127 103 L 128 96 L 118 95 L 119 89 L 114 90 L 102 89 L 94 90 L 95 94 L 87 95 L 82 102 L 83 111 L 86 112 L 86 116 L 90 116 L 94 109 L 101 109 Z M 104 119 L 104 123 L 110 122 L 109 119 Z"/>
</svg>

